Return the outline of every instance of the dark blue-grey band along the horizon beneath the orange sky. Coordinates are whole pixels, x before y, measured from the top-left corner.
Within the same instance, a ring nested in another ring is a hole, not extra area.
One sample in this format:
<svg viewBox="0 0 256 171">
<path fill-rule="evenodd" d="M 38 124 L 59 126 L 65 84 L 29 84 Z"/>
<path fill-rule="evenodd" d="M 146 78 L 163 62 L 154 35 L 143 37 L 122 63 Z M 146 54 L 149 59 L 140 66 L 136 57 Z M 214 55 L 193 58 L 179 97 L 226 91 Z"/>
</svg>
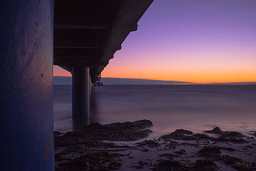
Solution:
<svg viewBox="0 0 256 171">
<path fill-rule="evenodd" d="M 134 78 L 102 78 L 103 84 L 198 84 L 192 82 L 162 81 L 153 79 L 134 79 Z M 53 76 L 53 84 L 72 84 L 72 77 Z M 234 82 L 234 83 L 208 83 L 207 85 L 248 85 L 256 82 Z"/>
</svg>

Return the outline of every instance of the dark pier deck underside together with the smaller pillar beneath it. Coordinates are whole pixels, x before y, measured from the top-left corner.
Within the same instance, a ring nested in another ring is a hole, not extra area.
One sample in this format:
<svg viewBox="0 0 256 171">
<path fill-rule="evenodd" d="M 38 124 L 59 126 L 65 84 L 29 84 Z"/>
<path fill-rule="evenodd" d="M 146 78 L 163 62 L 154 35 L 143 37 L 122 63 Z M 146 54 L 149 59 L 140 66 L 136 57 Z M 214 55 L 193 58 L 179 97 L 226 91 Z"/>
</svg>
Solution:
<svg viewBox="0 0 256 171">
<path fill-rule="evenodd" d="M 88 86 L 101 72 L 153 0 L 54 1 L 54 65 L 72 73 L 73 120 L 89 119 Z M 79 69 L 78 69 L 79 68 Z M 84 75 L 82 68 L 87 68 Z M 88 74 L 87 74 L 88 73 Z M 88 77 L 91 81 L 88 83 Z"/>
</svg>

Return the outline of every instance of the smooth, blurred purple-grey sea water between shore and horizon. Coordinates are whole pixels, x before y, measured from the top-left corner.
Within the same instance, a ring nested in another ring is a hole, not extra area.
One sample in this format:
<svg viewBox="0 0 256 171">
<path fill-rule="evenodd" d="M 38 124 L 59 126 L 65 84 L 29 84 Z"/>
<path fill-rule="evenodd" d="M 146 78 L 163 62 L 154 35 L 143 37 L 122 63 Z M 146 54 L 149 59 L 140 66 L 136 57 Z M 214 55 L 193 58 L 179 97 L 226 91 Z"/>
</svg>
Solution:
<svg viewBox="0 0 256 171">
<path fill-rule="evenodd" d="M 54 129 L 72 129 L 72 86 L 54 85 Z M 104 85 L 92 90 L 92 122 L 153 122 L 152 136 L 183 128 L 256 130 L 256 86 Z"/>
</svg>

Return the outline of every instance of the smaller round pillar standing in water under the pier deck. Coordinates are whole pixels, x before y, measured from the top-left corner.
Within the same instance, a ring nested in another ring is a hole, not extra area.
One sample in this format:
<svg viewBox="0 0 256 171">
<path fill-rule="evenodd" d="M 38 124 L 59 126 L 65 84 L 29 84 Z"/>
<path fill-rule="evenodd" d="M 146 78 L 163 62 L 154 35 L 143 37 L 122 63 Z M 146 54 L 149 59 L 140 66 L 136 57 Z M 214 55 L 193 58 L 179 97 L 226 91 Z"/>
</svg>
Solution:
<svg viewBox="0 0 256 171">
<path fill-rule="evenodd" d="M 72 118 L 74 127 L 89 123 L 89 67 L 72 67 Z"/>
</svg>

